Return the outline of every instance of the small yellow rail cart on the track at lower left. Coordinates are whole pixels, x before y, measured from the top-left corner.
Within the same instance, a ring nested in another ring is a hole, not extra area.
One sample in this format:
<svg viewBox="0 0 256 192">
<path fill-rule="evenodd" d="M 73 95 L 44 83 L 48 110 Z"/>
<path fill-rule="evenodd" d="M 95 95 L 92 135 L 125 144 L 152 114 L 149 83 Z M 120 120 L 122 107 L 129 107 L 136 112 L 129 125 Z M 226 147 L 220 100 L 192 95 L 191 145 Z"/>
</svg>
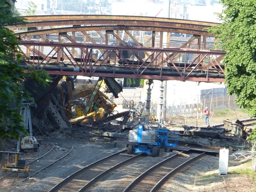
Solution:
<svg viewBox="0 0 256 192">
<path fill-rule="evenodd" d="M 3 152 L 3 151 L 1 151 Z M 3 172 L 24 173 L 28 177 L 29 167 L 25 159 L 19 159 L 19 152 L 3 152 L 8 154 L 7 163 L 3 164 Z M 14 155 L 14 156 L 13 156 Z"/>
</svg>

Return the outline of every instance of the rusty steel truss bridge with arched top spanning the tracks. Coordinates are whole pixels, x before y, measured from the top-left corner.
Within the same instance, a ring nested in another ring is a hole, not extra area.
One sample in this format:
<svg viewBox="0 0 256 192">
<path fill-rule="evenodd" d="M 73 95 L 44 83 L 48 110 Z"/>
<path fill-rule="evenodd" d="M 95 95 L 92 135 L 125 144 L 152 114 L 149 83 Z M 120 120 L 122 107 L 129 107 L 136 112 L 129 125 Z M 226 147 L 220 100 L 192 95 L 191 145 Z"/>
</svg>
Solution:
<svg viewBox="0 0 256 192">
<path fill-rule="evenodd" d="M 27 25 L 9 26 L 20 39 L 23 68 L 66 76 L 225 81 L 226 53 L 206 49 L 207 37 L 213 36 L 206 28 L 218 23 L 114 15 L 25 18 Z M 21 28 L 27 30 L 17 30 Z M 172 33 L 190 38 L 172 38 Z M 129 46 L 127 40 L 136 44 Z"/>
</svg>

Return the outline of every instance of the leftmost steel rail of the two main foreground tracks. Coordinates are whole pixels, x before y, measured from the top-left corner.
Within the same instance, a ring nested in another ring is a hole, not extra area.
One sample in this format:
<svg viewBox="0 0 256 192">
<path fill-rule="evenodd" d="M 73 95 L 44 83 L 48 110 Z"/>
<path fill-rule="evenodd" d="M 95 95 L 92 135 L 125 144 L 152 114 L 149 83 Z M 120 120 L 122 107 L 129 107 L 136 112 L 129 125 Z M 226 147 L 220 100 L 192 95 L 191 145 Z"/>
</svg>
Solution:
<svg viewBox="0 0 256 192">
<path fill-rule="evenodd" d="M 102 162 L 107 161 L 108 159 L 112 159 L 116 156 L 118 156 L 120 153 L 126 152 L 127 149 L 122 150 L 120 152 L 114 153 L 108 157 L 104 157 L 102 159 L 99 159 L 98 161 L 91 163 L 89 165 L 87 165 L 86 167 L 83 167 L 81 169 L 79 169 L 78 171 L 74 172 L 73 174 L 69 175 L 68 177 L 66 177 L 65 179 L 63 179 L 61 182 L 59 182 L 58 184 L 56 184 L 53 188 L 51 188 L 48 192 L 56 192 L 58 191 L 58 189 L 60 189 L 64 184 L 66 184 L 67 182 L 69 182 L 71 179 L 73 179 L 74 177 L 76 177 L 77 175 L 81 174 L 82 172 L 90 169 L 91 167 L 94 167 Z"/>
</svg>

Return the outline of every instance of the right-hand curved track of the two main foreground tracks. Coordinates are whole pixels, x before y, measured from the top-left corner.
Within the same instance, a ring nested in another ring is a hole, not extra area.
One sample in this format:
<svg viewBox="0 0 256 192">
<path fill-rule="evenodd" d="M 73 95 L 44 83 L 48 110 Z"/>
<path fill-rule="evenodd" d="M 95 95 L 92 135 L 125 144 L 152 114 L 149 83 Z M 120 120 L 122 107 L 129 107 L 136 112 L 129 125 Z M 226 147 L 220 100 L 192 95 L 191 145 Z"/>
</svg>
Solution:
<svg viewBox="0 0 256 192">
<path fill-rule="evenodd" d="M 193 154 L 192 157 L 186 158 L 175 154 L 140 174 L 123 192 L 155 192 L 172 174 L 175 174 L 203 155 L 204 153 L 199 155 Z"/>
</svg>

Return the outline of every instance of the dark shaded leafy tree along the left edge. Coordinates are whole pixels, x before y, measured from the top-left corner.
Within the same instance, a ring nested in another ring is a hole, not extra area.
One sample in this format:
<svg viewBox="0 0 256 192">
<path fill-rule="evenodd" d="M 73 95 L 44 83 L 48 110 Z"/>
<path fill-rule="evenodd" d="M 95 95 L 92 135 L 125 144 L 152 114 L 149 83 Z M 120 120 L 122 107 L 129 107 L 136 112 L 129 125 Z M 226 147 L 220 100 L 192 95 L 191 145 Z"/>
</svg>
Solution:
<svg viewBox="0 0 256 192">
<path fill-rule="evenodd" d="M 7 25 L 24 24 L 22 18 L 13 17 L 11 5 L 0 1 L 0 138 L 18 139 L 25 133 L 20 115 L 23 99 L 29 98 L 29 93 L 20 88 L 26 78 L 33 78 L 38 83 L 47 85 L 49 76 L 44 71 L 29 68 L 24 71 L 19 67 L 22 54 L 18 51 L 19 42 Z"/>
</svg>

